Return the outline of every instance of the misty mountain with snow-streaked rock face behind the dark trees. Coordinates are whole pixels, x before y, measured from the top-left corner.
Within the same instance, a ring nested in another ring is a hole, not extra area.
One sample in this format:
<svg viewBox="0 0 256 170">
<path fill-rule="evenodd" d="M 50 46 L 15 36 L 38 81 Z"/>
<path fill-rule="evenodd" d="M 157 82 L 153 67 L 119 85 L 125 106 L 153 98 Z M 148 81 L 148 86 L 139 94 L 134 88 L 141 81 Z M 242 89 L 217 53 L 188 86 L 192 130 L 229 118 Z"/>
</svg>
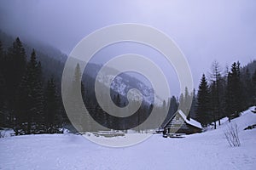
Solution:
<svg viewBox="0 0 256 170">
<path fill-rule="evenodd" d="M 3 42 L 3 48 L 7 51 L 15 41 L 15 38 L 9 36 L 3 31 L 0 31 L 0 40 Z M 21 42 L 23 42 L 22 39 Z M 32 52 L 32 48 L 35 48 L 38 60 L 40 60 L 42 64 L 44 79 L 47 80 L 51 76 L 55 77 L 57 86 L 59 89 L 61 89 L 61 77 L 65 62 L 67 60 L 67 54 L 63 54 L 60 50 L 44 44 L 43 42 L 26 40 L 23 42 L 23 46 L 26 49 L 26 56 L 28 59 Z M 101 68 L 102 65 L 89 63 L 84 70 L 83 81 L 89 80 L 90 82 L 94 82 L 97 73 Z M 112 68 L 109 69 L 111 70 Z M 85 77 L 87 77 L 87 80 L 85 80 Z M 106 85 L 110 80 L 110 76 L 100 75 L 99 80 Z M 90 88 L 94 88 L 94 85 L 91 84 Z M 148 105 L 154 102 L 154 89 L 150 86 L 150 83 L 148 83 L 148 80 L 145 78 L 139 80 L 137 77 L 129 75 L 129 73 L 122 73 L 115 77 L 111 83 L 113 94 L 118 93 L 124 99 L 131 88 L 137 88 L 141 94 L 143 94 L 143 99 L 146 100 Z M 157 100 L 158 103 L 162 102 L 162 99 Z"/>
</svg>

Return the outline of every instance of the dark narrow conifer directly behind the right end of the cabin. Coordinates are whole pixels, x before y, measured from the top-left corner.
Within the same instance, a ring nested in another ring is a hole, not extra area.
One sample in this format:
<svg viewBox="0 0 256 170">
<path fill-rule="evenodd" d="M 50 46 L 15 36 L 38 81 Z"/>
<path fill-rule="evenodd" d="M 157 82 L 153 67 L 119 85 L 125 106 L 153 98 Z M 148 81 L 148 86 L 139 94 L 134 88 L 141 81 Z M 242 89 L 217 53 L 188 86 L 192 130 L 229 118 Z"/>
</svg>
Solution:
<svg viewBox="0 0 256 170">
<path fill-rule="evenodd" d="M 196 119 L 205 127 L 209 123 L 209 111 L 209 88 L 207 79 L 203 74 L 197 94 Z"/>
</svg>

